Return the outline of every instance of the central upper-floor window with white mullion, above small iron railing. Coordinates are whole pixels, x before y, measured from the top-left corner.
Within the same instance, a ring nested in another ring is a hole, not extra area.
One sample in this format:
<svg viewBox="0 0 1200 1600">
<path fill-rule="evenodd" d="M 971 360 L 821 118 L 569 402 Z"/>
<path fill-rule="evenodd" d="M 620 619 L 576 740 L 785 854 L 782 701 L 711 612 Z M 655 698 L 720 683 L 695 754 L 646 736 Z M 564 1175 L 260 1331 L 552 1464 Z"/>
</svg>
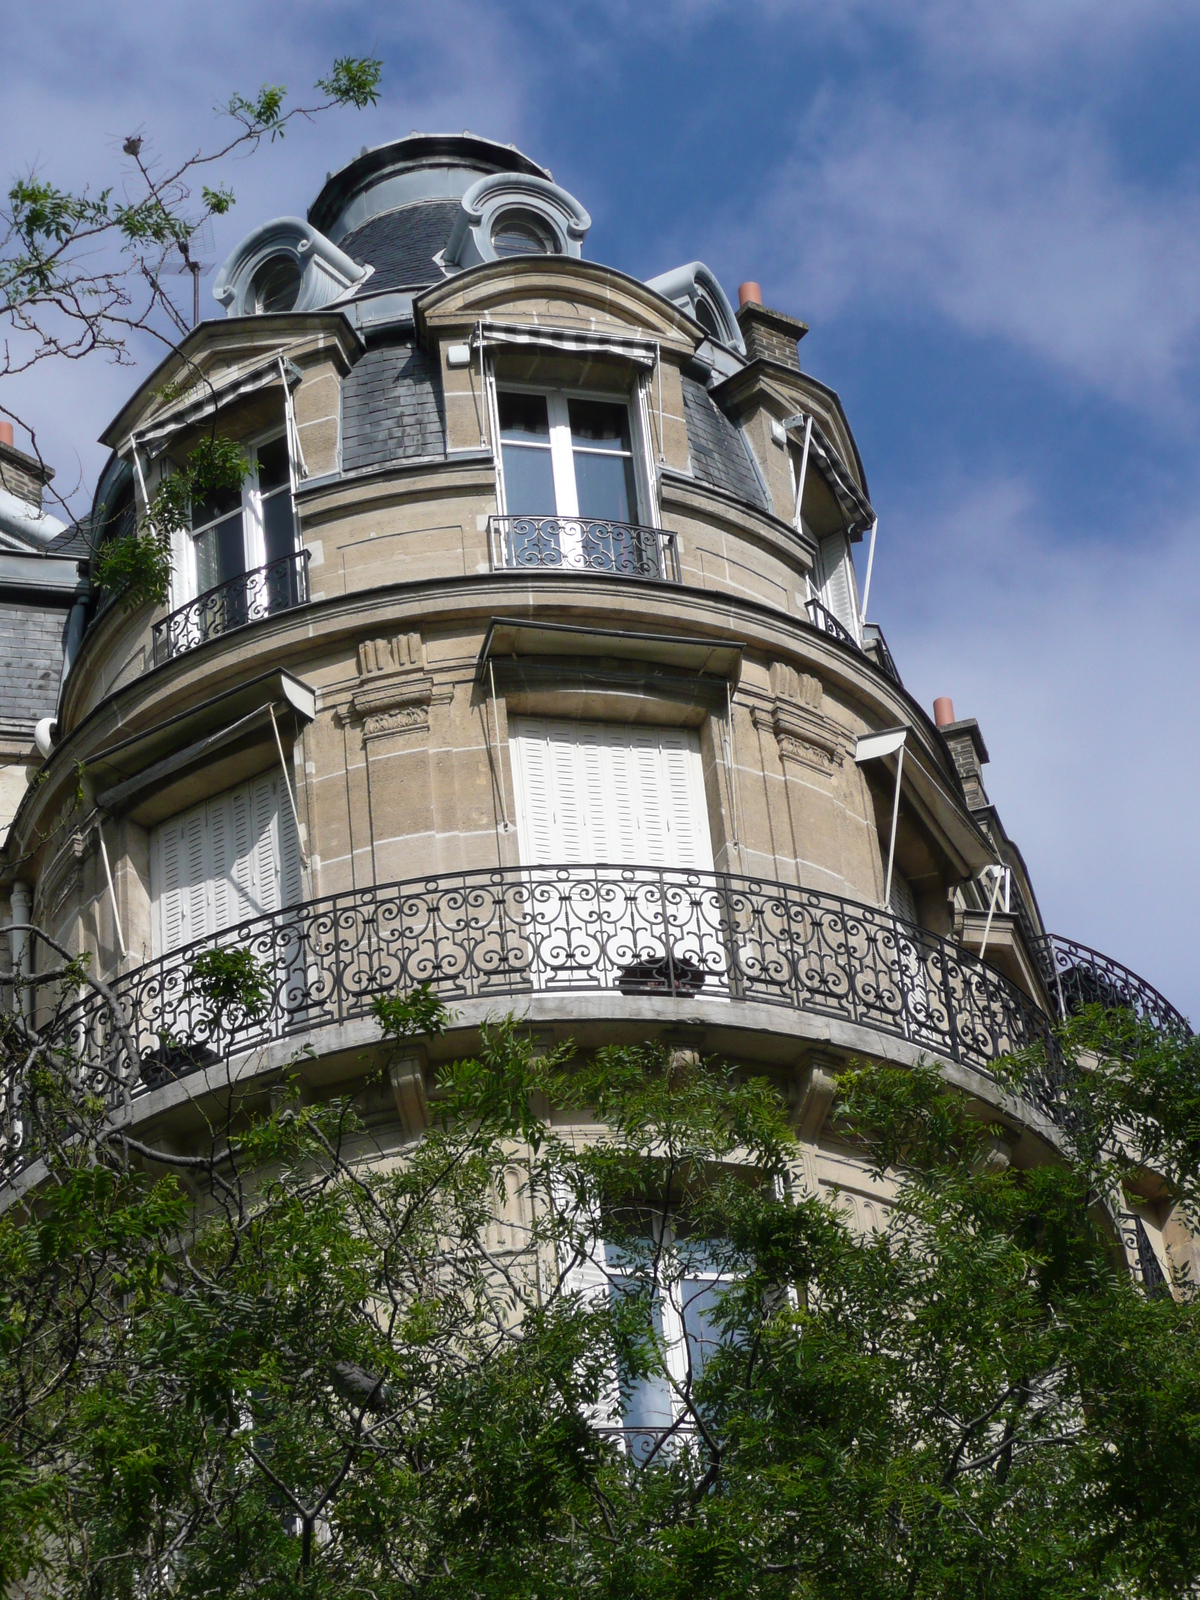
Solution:
<svg viewBox="0 0 1200 1600">
<path fill-rule="evenodd" d="M 637 522 L 624 402 L 501 390 L 498 406 L 509 515 Z"/>
</svg>

